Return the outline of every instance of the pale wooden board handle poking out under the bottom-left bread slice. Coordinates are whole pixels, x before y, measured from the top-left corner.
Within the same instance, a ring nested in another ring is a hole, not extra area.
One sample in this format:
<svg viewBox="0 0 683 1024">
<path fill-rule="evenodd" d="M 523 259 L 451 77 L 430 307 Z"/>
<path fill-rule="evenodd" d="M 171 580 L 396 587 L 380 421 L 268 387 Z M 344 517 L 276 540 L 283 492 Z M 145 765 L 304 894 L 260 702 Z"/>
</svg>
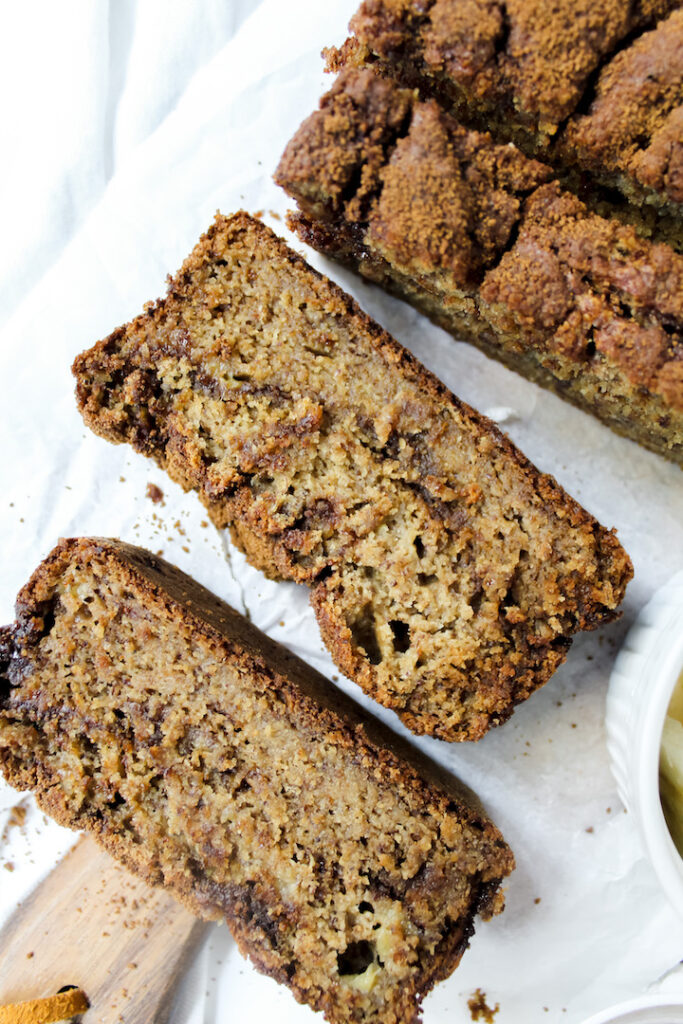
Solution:
<svg viewBox="0 0 683 1024">
<path fill-rule="evenodd" d="M 0 1006 L 76 985 L 83 1024 L 164 1024 L 207 927 L 81 839 L 0 932 Z"/>
</svg>

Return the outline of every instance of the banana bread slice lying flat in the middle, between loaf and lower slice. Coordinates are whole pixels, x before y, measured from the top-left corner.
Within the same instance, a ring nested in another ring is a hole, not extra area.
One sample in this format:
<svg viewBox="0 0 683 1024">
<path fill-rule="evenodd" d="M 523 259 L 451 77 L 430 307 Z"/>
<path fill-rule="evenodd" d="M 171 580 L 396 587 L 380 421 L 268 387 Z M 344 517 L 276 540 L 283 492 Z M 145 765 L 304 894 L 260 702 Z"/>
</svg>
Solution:
<svg viewBox="0 0 683 1024">
<path fill-rule="evenodd" d="M 339 667 L 416 732 L 478 738 L 616 613 L 613 534 L 247 214 L 74 371 L 86 423 L 309 586 Z"/>
</svg>

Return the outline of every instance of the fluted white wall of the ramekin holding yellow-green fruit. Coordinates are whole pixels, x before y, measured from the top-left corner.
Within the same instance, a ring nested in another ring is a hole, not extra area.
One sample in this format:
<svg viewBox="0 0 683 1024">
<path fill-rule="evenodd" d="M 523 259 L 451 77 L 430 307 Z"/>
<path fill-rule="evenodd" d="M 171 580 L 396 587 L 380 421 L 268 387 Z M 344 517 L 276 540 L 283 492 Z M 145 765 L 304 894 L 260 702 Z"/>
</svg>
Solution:
<svg viewBox="0 0 683 1024">
<path fill-rule="evenodd" d="M 638 824 L 667 896 L 683 915 L 683 859 L 659 801 L 661 728 L 681 672 L 683 572 L 656 592 L 629 631 L 609 681 L 606 721 L 620 797 Z"/>
</svg>

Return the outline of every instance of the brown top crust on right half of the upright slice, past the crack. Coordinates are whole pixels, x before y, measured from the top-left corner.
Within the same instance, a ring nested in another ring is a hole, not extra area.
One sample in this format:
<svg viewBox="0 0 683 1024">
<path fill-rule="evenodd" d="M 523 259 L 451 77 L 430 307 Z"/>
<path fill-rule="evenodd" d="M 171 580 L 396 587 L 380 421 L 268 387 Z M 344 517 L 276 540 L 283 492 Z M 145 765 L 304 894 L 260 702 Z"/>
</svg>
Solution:
<svg viewBox="0 0 683 1024">
<path fill-rule="evenodd" d="M 634 389 L 683 412 L 683 389 L 672 386 L 683 349 L 667 330 L 683 322 L 683 258 L 667 246 L 587 215 L 574 197 L 547 185 L 529 199 L 517 242 L 484 279 L 481 297 L 535 345 L 578 361 L 597 353 Z"/>
</svg>

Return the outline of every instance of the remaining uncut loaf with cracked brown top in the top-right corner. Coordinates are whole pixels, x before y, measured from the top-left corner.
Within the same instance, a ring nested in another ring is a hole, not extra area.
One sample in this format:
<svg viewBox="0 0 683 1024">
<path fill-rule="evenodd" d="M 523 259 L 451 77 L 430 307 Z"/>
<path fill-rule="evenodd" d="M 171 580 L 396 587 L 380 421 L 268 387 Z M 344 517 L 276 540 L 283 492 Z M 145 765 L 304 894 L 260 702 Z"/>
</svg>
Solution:
<svg viewBox="0 0 683 1024">
<path fill-rule="evenodd" d="M 663 229 L 683 244 L 679 7 L 364 0 L 352 37 L 328 52 L 328 63 L 372 66 L 417 87 L 465 124 L 550 161 L 575 186 L 585 188 L 588 173 L 637 207 L 654 203 L 666 211 Z M 657 218 L 643 217 L 643 228 L 658 228 Z"/>
</svg>

